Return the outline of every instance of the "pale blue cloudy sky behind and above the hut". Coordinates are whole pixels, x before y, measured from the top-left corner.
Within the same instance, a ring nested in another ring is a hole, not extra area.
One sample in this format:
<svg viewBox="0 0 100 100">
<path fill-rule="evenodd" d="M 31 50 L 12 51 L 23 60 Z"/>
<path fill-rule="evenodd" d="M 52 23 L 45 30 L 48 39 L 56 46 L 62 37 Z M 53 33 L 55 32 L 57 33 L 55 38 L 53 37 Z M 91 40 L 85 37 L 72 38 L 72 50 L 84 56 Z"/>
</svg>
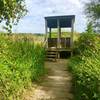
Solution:
<svg viewBox="0 0 100 100">
<path fill-rule="evenodd" d="M 83 0 L 86 1 L 86 0 Z M 83 32 L 86 17 L 82 0 L 25 0 L 28 14 L 23 17 L 13 32 L 44 33 L 45 16 L 75 15 L 75 31 Z"/>
</svg>

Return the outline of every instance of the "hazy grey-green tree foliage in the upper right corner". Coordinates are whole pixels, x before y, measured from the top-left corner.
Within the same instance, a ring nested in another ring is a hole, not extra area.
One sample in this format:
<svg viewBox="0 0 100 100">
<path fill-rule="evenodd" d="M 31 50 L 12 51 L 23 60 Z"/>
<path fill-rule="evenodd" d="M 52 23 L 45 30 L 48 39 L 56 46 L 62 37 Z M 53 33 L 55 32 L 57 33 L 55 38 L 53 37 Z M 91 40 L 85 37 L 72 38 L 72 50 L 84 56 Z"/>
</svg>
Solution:
<svg viewBox="0 0 100 100">
<path fill-rule="evenodd" d="M 86 3 L 85 14 L 89 21 L 94 24 L 94 29 L 100 31 L 100 0 L 90 0 Z"/>
</svg>

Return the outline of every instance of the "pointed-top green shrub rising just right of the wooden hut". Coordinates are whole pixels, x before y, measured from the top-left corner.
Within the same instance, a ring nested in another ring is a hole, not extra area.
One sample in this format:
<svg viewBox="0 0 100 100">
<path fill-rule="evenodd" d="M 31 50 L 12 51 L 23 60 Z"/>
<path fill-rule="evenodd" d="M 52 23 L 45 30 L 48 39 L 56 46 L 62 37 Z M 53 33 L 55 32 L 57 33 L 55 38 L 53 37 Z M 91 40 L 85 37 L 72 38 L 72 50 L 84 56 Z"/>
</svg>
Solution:
<svg viewBox="0 0 100 100">
<path fill-rule="evenodd" d="M 95 37 L 94 31 L 93 31 L 93 26 L 92 23 L 89 22 L 87 25 L 87 29 L 85 33 L 80 34 L 80 37 L 77 39 L 77 41 L 75 42 L 75 46 L 74 46 L 74 52 L 76 54 L 81 54 L 83 53 L 83 51 L 85 49 L 91 48 L 95 46 Z"/>
</svg>

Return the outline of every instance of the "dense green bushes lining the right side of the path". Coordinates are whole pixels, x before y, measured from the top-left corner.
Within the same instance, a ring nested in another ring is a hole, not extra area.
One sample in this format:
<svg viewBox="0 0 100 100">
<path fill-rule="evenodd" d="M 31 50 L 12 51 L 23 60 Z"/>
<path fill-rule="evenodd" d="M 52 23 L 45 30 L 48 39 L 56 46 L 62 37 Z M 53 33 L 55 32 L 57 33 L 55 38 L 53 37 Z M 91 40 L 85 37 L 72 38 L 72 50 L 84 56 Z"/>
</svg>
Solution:
<svg viewBox="0 0 100 100">
<path fill-rule="evenodd" d="M 76 100 L 100 100 L 100 38 L 82 34 L 77 43 L 78 55 L 70 60 Z"/>
</svg>

